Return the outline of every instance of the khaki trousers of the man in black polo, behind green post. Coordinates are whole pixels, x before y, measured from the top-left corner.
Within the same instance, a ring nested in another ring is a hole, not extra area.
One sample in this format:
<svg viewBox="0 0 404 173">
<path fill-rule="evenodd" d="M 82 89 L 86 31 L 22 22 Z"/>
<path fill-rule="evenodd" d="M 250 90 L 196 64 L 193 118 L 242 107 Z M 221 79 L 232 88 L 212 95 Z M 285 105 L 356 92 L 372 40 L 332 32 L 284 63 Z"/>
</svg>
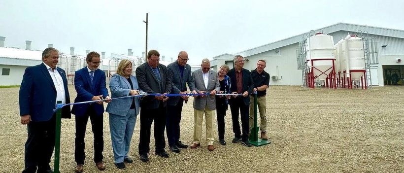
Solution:
<svg viewBox="0 0 404 173">
<path fill-rule="evenodd" d="M 258 102 L 258 111 L 260 112 L 260 117 L 261 117 L 260 130 L 261 130 L 261 132 L 266 133 L 267 132 L 267 121 L 268 121 L 268 119 L 267 119 L 267 97 L 266 96 L 258 97 L 257 102 Z M 251 133 L 251 129 L 254 126 L 254 96 L 250 96 L 249 124 L 250 124 L 250 133 Z"/>
</svg>

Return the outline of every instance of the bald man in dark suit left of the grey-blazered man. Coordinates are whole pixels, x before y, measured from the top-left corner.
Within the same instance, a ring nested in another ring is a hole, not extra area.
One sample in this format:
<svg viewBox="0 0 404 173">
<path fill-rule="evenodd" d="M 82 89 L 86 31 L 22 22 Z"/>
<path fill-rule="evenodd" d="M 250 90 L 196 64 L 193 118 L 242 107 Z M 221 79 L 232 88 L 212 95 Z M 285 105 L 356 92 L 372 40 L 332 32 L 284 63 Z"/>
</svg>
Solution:
<svg viewBox="0 0 404 173">
<path fill-rule="evenodd" d="M 194 90 L 194 82 L 191 77 L 191 66 L 187 64 L 188 53 L 181 51 L 178 54 L 177 61 L 167 66 L 168 76 L 172 77 L 171 94 L 187 94 L 187 86 L 190 91 Z M 182 105 L 188 102 L 187 96 L 171 97 L 167 101 L 167 138 L 169 149 L 172 152 L 179 153 L 179 148 L 187 148 L 179 139 Z"/>
</svg>

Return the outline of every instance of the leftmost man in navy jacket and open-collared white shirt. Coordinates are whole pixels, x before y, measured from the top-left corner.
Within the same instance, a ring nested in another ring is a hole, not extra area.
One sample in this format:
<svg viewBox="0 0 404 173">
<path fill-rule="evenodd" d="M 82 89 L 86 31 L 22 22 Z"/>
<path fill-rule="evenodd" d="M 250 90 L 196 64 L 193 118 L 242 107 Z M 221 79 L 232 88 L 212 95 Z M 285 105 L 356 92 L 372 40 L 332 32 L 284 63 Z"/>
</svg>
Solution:
<svg viewBox="0 0 404 173">
<path fill-rule="evenodd" d="M 46 48 L 42 64 L 25 69 L 19 92 L 21 123 L 28 124 L 23 173 L 53 173 L 49 166 L 55 147 L 57 101 L 70 103 L 66 72 L 57 68 L 59 51 Z M 62 118 L 70 118 L 70 107 L 62 108 Z"/>
</svg>

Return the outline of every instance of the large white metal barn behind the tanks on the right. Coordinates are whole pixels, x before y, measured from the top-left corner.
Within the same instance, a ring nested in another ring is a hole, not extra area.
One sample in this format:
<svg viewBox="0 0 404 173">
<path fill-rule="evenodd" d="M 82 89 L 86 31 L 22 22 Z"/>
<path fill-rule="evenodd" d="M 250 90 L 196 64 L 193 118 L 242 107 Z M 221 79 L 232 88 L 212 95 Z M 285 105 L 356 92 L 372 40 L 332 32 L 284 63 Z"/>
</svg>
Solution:
<svg viewBox="0 0 404 173">
<path fill-rule="evenodd" d="M 337 23 L 314 31 L 332 35 L 335 44 L 348 34 L 355 35 L 359 30 L 367 31 L 369 37 L 375 37 L 377 43 L 379 64 L 371 68 L 372 85 L 385 85 L 392 73 L 397 73 L 399 78 L 403 79 L 404 63 L 401 62 L 404 59 L 403 30 Z M 258 60 L 265 59 L 267 62 L 265 70 L 271 76 L 275 76 L 271 77 L 270 85 L 302 85 L 302 71 L 298 70 L 296 60 L 298 43 L 302 41 L 303 35 L 292 36 L 235 54 L 226 53 L 213 57 L 211 66 L 214 70 L 223 64 L 232 68 L 234 56 L 241 55 L 246 60 L 244 68 L 255 69 Z"/>
</svg>

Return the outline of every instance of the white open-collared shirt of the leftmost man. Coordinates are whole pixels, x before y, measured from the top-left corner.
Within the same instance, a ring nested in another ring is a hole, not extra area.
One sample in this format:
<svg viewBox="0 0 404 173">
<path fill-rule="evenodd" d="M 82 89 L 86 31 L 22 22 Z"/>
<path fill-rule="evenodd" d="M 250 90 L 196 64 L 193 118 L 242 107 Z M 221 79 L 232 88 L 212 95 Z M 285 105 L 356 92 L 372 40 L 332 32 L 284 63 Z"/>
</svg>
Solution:
<svg viewBox="0 0 404 173">
<path fill-rule="evenodd" d="M 48 72 L 52 78 L 53 84 L 55 85 L 55 88 L 56 88 L 55 105 L 58 103 L 58 101 L 62 101 L 62 104 L 66 104 L 65 85 L 63 84 L 63 79 L 62 79 L 61 74 L 59 74 L 59 71 L 56 69 L 58 67 L 56 67 L 55 69 L 52 69 L 45 63 L 43 63 L 43 64 L 45 65 L 46 69 L 48 69 Z"/>
</svg>

